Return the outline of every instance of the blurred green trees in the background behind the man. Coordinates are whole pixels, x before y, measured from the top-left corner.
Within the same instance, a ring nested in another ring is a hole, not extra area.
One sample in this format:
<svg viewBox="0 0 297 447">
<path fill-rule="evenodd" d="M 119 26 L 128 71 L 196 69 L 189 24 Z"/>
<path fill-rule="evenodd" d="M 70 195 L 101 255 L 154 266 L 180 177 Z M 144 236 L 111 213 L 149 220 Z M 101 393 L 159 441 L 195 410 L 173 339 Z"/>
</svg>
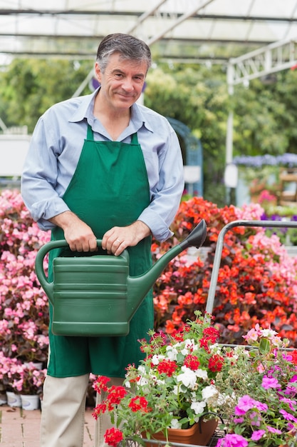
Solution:
<svg viewBox="0 0 297 447">
<path fill-rule="evenodd" d="M 14 59 L 0 71 L 0 116 L 6 126 L 31 133 L 46 109 L 73 96 L 90 61 Z M 234 111 L 234 156 L 296 153 L 297 71 L 282 71 L 229 96 L 226 67 L 156 63 L 147 75 L 145 105 L 182 121 L 201 139 L 204 198 L 225 203 L 226 121 Z M 85 87 L 82 94 L 89 94 Z"/>
</svg>

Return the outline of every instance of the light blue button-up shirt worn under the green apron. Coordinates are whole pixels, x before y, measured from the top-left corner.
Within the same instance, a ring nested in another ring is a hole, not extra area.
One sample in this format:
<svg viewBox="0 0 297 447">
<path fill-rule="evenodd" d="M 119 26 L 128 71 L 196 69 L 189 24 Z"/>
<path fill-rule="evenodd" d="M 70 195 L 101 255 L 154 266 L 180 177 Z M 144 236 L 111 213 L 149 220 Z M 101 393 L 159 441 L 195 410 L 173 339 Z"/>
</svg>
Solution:
<svg viewBox="0 0 297 447">
<path fill-rule="evenodd" d="M 43 230 L 53 228 L 48 219 L 69 210 L 63 194 L 78 164 L 87 123 L 93 129 L 95 141 L 111 140 L 93 115 L 97 93 L 55 104 L 41 116 L 33 131 L 21 193 L 31 216 Z M 167 119 L 140 104 L 132 105 L 129 126 L 117 141 L 130 143 L 135 132 L 150 184 L 150 205 L 138 219 L 147 224 L 157 240 L 164 241 L 172 235 L 168 227 L 184 189 L 179 141 Z"/>
</svg>

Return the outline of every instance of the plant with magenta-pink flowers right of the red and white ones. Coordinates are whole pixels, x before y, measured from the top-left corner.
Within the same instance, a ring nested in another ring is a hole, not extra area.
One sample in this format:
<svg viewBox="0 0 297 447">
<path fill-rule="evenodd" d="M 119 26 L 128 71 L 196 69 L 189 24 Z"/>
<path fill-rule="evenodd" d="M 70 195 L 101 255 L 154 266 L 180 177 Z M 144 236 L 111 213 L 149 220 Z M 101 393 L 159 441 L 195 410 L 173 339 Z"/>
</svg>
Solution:
<svg viewBox="0 0 297 447">
<path fill-rule="evenodd" d="M 251 349 L 222 352 L 215 386 L 224 398 L 227 434 L 217 447 L 296 446 L 297 351 L 258 324 L 244 338 Z"/>
</svg>

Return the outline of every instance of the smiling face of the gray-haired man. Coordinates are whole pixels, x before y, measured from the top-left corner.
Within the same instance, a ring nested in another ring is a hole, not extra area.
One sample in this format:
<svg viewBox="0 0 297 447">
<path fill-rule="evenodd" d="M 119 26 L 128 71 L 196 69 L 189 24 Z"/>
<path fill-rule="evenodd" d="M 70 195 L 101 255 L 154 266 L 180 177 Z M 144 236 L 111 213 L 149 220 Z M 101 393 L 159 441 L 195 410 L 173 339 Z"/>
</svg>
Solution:
<svg viewBox="0 0 297 447">
<path fill-rule="evenodd" d="M 95 64 L 95 73 L 101 84 L 100 98 L 112 109 L 129 109 L 137 101 L 147 74 L 142 61 L 120 60 L 120 54 L 110 56 L 105 72 Z"/>
</svg>

